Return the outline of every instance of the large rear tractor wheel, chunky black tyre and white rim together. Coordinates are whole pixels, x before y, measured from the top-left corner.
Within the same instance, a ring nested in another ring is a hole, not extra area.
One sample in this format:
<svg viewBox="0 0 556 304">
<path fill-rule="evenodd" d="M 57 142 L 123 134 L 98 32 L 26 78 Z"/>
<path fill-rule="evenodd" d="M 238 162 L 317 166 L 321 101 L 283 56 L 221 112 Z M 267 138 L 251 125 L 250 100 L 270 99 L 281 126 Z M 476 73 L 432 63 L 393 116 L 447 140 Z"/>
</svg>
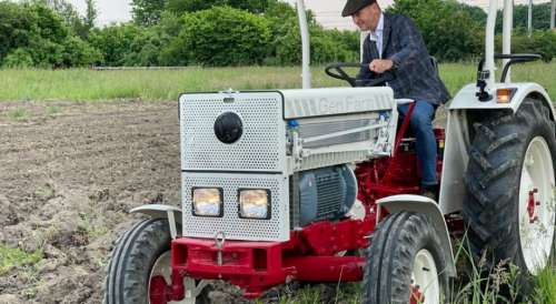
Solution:
<svg viewBox="0 0 556 304">
<path fill-rule="evenodd" d="M 487 270 L 519 266 L 522 291 L 549 264 L 555 235 L 555 124 L 549 109 L 526 99 L 516 114 L 475 123 L 465 175 L 464 221 L 470 250 Z"/>
</svg>

